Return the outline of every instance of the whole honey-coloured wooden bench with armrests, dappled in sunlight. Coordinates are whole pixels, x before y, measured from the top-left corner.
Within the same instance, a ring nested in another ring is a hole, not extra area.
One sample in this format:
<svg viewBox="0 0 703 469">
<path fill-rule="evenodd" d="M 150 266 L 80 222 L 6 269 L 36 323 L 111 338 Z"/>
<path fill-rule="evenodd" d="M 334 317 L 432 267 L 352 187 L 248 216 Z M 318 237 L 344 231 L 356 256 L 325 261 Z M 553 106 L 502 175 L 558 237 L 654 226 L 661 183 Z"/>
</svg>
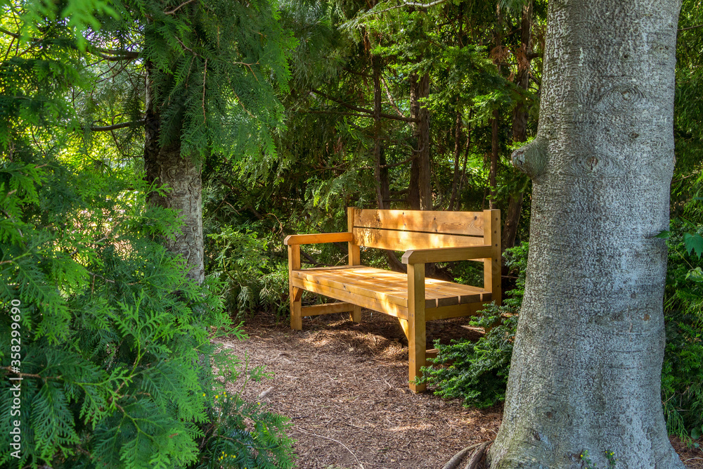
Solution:
<svg viewBox="0 0 703 469">
<path fill-rule="evenodd" d="M 288 246 L 290 327 L 302 330 L 304 316 L 351 313 L 361 307 L 399 319 L 409 344 L 410 387 L 425 366 L 425 321 L 470 316 L 486 302 L 501 301 L 501 212 L 427 212 L 348 209 L 348 231 L 291 235 Z M 300 245 L 348 243 L 349 265 L 301 269 Z M 361 265 L 360 247 L 404 251 L 408 273 Z M 465 259 L 484 264 L 483 288 L 425 278 L 425 264 Z M 302 307 L 304 290 L 340 302 Z"/>
</svg>

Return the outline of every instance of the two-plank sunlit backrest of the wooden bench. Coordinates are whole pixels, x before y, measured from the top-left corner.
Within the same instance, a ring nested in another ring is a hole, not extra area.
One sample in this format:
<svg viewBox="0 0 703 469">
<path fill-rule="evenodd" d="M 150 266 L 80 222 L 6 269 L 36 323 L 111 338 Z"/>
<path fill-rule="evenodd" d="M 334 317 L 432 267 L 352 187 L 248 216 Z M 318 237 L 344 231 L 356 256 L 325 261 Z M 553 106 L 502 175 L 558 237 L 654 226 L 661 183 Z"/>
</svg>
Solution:
<svg viewBox="0 0 703 469">
<path fill-rule="evenodd" d="M 347 210 L 348 231 L 354 235 L 354 244 L 396 251 L 460 248 L 491 243 L 491 233 L 485 233 L 484 226 L 490 227 L 491 216 L 499 213 L 498 210 L 430 212 L 361 210 L 355 207 Z M 488 240 L 487 243 L 484 239 Z"/>
</svg>

